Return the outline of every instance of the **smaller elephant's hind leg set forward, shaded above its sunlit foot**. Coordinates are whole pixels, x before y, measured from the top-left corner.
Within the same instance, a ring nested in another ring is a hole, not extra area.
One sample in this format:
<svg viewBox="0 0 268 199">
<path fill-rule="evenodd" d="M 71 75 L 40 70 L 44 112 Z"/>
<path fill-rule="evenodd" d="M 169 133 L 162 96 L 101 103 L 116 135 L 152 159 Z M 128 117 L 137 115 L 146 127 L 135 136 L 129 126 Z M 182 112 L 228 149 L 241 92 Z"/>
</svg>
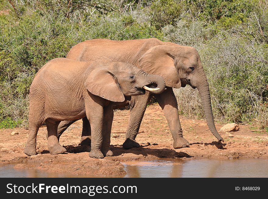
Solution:
<svg viewBox="0 0 268 199">
<path fill-rule="evenodd" d="M 51 155 L 66 152 L 66 149 L 58 142 L 57 129 L 60 121 L 46 120 L 48 130 L 48 150 Z"/>
</svg>

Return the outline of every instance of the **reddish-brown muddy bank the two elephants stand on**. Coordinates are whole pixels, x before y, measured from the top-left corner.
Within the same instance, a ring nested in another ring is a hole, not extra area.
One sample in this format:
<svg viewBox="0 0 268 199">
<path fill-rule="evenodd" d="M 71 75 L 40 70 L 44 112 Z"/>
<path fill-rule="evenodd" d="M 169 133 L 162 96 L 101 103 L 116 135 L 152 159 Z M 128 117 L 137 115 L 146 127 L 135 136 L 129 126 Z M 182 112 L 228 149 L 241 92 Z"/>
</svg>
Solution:
<svg viewBox="0 0 268 199">
<path fill-rule="evenodd" d="M 23 153 L 28 130 L 24 128 L 0 130 L 0 162 L 1 164 L 16 163 L 18 169 L 41 169 L 53 173 L 70 173 L 77 175 L 123 176 L 124 161 L 148 161 L 161 158 L 181 159 L 234 159 L 262 158 L 268 159 L 268 132 L 259 131 L 259 127 L 239 124 L 240 130 L 231 132 L 234 137 L 220 133 L 224 143 L 218 144 L 217 139 L 209 131 L 206 121 L 186 119 L 180 116 L 183 135 L 190 146 L 181 149 L 172 147 L 173 139 L 158 104 L 147 107 L 139 134 L 136 138 L 142 147 L 123 149 L 125 131 L 128 125 L 129 110 L 115 110 L 111 132 L 111 149 L 114 157 L 93 159 L 88 156 L 90 146 L 79 146 L 82 120 L 72 124 L 62 137 L 60 144 L 67 152 L 50 155 L 45 133 L 41 127 L 37 134 L 37 155 L 27 156 Z M 219 131 L 222 124 L 216 123 Z M 11 135 L 12 131 L 18 132 Z"/>
</svg>

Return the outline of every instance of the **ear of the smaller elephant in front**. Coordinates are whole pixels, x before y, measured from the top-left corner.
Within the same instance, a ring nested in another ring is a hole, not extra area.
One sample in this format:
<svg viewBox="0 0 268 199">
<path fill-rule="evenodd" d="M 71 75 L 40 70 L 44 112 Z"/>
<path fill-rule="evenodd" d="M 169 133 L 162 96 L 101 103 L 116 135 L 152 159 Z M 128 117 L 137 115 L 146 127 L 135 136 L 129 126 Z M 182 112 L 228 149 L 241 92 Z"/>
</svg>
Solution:
<svg viewBox="0 0 268 199">
<path fill-rule="evenodd" d="M 125 101 L 116 77 L 109 72 L 107 67 L 99 67 L 90 72 L 84 85 L 90 93 L 106 100 Z"/>
</svg>

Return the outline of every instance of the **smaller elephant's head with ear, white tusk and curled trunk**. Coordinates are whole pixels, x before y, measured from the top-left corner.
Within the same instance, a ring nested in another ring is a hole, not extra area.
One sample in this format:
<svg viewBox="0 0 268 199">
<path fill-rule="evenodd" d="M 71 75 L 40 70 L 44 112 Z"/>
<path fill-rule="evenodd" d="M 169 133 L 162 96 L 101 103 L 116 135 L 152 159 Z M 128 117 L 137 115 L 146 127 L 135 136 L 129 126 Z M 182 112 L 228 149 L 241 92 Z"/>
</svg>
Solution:
<svg viewBox="0 0 268 199">
<path fill-rule="evenodd" d="M 131 64 L 111 62 L 90 72 L 85 86 L 94 95 L 123 102 L 125 96 L 143 95 L 145 90 L 160 94 L 165 89 L 165 81 L 161 76 L 150 75 Z"/>
</svg>

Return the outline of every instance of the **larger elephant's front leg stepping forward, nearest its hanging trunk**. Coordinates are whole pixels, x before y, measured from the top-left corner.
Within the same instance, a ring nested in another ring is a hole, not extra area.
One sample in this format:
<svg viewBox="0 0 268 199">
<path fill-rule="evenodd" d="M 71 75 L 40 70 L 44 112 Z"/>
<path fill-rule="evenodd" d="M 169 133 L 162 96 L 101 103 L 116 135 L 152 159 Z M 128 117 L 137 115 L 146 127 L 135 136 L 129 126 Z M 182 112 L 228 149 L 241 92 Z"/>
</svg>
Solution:
<svg viewBox="0 0 268 199">
<path fill-rule="evenodd" d="M 189 146 L 189 142 L 182 136 L 182 127 L 178 114 L 178 103 L 171 87 L 158 95 L 154 95 L 159 105 L 164 111 L 171 131 L 173 148 L 183 148 Z"/>
</svg>

